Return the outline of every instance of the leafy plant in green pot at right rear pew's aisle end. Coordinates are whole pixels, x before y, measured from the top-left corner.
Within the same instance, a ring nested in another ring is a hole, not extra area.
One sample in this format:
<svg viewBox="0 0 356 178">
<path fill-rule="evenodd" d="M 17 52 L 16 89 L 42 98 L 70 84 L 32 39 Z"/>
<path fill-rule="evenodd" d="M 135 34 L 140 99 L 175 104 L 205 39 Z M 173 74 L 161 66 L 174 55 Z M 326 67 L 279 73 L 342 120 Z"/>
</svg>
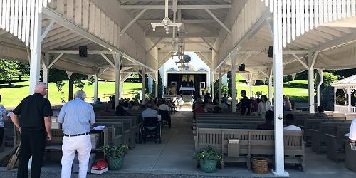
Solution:
<svg viewBox="0 0 356 178">
<path fill-rule="evenodd" d="M 200 169 L 206 173 L 214 172 L 217 164 L 220 164 L 221 167 L 224 165 L 222 155 L 211 146 L 206 147 L 204 150 L 195 152 L 194 159 L 199 163 Z"/>
</svg>

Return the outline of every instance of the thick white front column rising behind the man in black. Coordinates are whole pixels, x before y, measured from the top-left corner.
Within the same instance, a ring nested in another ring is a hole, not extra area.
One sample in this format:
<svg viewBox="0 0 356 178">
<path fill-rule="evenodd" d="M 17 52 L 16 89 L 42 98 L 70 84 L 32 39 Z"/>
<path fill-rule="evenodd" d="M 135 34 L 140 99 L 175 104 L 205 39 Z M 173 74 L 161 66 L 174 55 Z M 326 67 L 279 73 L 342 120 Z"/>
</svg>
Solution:
<svg viewBox="0 0 356 178">
<path fill-rule="evenodd" d="M 42 36 L 42 13 L 35 11 L 33 28 L 33 44 L 31 48 L 30 60 L 30 90 L 29 94 L 35 93 L 35 85 L 40 79 L 41 70 L 41 36 Z"/>
</svg>

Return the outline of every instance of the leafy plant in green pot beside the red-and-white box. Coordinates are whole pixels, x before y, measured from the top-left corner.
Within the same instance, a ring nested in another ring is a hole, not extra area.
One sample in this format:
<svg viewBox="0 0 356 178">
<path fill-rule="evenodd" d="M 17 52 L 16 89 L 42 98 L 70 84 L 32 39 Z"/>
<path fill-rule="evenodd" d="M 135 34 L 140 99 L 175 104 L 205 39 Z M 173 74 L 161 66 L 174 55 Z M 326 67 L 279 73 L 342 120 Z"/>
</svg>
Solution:
<svg viewBox="0 0 356 178">
<path fill-rule="evenodd" d="M 109 164 L 110 170 L 119 170 L 124 164 L 124 157 L 129 148 L 126 145 L 112 146 L 105 145 L 102 147 L 104 155 Z"/>
</svg>

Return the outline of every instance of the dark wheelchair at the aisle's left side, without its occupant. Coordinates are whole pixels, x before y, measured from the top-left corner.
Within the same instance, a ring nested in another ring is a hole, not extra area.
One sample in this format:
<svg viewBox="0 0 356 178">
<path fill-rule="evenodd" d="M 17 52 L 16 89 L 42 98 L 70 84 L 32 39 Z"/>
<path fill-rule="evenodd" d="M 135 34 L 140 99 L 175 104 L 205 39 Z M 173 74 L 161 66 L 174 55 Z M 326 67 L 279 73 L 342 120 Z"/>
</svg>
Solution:
<svg viewBox="0 0 356 178">
<path fill-rule="evenodd" d="M 155 140 L 155 143 L 162 143 L 162 127 L 157 117 L 145 117 L 140 128 L 140 142 L 146 143 L 147 137 Z"/>
</svg>

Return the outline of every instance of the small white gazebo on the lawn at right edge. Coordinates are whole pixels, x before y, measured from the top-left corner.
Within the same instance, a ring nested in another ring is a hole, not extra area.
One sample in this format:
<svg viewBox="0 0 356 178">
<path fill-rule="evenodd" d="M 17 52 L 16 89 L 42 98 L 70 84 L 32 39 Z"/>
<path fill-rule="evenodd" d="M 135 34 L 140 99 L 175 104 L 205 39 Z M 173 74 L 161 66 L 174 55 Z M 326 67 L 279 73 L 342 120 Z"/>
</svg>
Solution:
<svg viewBox="0 0 356 178">
<path fill-rule="evenodd" d="M 347 106 L 346 105 L 337 105 L 336 97 L 334 97 L 334 107 L 336 112 L 356 112 L 356 106 L 352 106 L 352 93 L 356 90 L 356 75 L 352 75 L 348 78 L 344 78 L 335 83 L 332 83 L 331 86 L 334 87 L 334 93 L 336 96 L 336 91 L 342 89 L 347 95 Z"/>
</svg>

